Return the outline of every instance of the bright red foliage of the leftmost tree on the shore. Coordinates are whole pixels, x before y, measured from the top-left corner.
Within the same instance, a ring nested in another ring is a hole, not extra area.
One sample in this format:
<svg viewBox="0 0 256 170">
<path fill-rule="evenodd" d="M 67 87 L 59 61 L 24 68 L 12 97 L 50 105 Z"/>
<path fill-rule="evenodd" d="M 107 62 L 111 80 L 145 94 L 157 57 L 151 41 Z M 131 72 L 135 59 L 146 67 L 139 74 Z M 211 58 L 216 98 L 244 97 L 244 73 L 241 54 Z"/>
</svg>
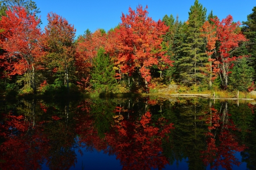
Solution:
<svg viewBox="0 0 256 170">
<path fill-rule="evenodd" d="M 6 51 L 0 56 L 5 71 L 10 75 L 23 74 L 32 70 L 43 55 L 40 36 L 40 19 L 29 15 L 23 7 L 13 7 L 2 16 L 0 27 L 1 48 Z"/>
</svg>

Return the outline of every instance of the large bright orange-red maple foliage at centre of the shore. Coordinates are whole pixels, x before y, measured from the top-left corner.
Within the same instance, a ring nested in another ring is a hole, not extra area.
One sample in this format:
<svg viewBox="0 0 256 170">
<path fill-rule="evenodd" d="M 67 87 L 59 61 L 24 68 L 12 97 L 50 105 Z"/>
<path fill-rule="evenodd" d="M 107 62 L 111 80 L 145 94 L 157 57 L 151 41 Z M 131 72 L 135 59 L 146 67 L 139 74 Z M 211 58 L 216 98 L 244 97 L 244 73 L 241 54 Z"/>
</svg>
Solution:
<svg viewBox="0 0 256 170">
<path fill-rule="evenodd" d="M 147 9 L 147 7 L 146 7 Z M 172 66 L 166 52 L 162 49 L 162 35 L 168 27 L 160 20 L 155 22 L 148 17 L 148 11 L 137 7 L 129 8 L 129 15 L 122 14 L 122 23 L 109 32 L 106 52 L 116 56 L 115 66 L 129 76 L 137 69 L 144 80 L 150 82 L 150 67 L 157 65 L 160 69 Z"/>
</svg>

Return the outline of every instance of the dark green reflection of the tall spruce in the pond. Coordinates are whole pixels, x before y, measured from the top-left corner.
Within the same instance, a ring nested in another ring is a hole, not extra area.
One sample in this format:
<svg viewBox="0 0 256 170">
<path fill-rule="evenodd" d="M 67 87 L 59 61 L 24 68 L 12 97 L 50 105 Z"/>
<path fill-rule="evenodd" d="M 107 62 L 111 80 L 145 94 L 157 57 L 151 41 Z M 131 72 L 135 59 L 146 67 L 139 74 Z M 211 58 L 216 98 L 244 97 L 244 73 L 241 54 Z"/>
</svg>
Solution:
<svg viewBox="0 0 256 170">
<path fill-rule="evenodd" d="M 189 169 L 205 169 L 200 151 L 205 145 L 206 125 L 202 116 L 208 109 L 207 101 L 199 98 L 183 99 L 171 105 L 164 105 L 163 115 L 174 122 L 170 133 L 170 144 L 165 144 L 164 154 L 174 163 L 188 158 Z"/>
</svg>

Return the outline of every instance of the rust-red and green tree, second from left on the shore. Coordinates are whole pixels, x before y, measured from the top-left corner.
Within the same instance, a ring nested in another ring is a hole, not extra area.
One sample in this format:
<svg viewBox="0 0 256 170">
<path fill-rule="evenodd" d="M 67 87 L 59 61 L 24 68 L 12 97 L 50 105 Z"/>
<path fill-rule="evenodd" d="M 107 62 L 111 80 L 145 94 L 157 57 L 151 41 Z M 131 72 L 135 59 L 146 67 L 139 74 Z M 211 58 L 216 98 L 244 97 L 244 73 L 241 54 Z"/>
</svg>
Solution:
<svg viewBox="0 0 256 170">
<path fill-rule="evenodd" d="M 76 29 L 68 20 L 55 13 L 47 15 L 48 24 L 44 28 L 42 44 L 46 54 L 42 57 L 41 64 L 49 76 L 61 76 L 64 84 L 67 84 L 75 63 L 75 40 Z M 52 80 L 53 81 L 53 80 Z"/>
</svg>

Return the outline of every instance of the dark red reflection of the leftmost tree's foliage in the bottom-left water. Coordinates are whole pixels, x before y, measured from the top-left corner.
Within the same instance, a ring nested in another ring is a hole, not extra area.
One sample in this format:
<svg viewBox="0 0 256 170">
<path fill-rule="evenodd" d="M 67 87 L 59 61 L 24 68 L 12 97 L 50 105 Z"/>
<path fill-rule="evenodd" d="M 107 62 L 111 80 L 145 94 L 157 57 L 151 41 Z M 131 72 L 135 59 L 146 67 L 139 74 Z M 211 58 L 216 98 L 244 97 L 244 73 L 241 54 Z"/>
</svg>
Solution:
<svg viewBox="0 0 256 170">
<path fill-rule="evenodd" d="M 0 125 L 0 136 L 5 138 L 0 145 L 1 169 L 41 169 L 49 148 L 43 130 L 31 130 L 31 123 L 24 121 L 23 115 L 9 113 L 4 119 Z"/>
</svg>

